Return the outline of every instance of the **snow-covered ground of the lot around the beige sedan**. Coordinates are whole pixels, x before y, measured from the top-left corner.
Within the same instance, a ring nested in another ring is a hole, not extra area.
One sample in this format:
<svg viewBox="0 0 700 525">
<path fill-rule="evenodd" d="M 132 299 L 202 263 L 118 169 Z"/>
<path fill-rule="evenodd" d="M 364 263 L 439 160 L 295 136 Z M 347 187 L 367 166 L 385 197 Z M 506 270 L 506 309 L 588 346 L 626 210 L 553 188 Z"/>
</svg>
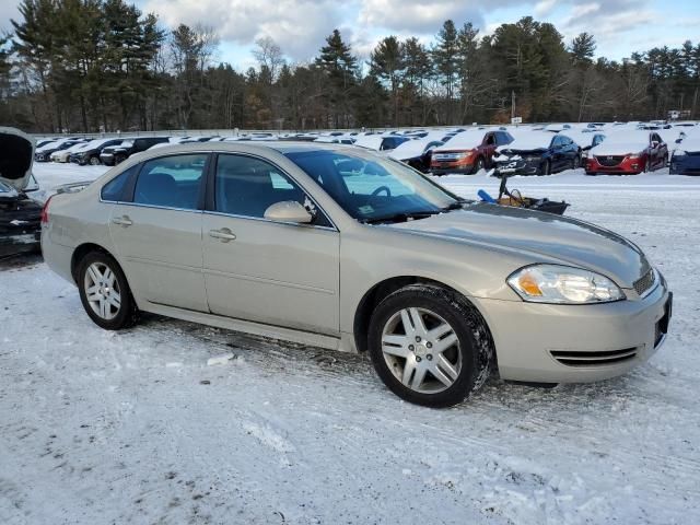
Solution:
<svg viewBox="0 0 700 525">
<path fill-rule="evenodd" d="M 35 170 L 46 187 L 102 171 Z M 700 523 L 700 178 L 510 186 L 565 198 L 658 265 L 675 317 L 649 364 L 551 390 L 492 380 L 431 410 L 387 392 L 364 357 L 155 316 L 103 331 L 39 258 L 13 259 L 0 262 L 0 523 Z"/>
</svg>

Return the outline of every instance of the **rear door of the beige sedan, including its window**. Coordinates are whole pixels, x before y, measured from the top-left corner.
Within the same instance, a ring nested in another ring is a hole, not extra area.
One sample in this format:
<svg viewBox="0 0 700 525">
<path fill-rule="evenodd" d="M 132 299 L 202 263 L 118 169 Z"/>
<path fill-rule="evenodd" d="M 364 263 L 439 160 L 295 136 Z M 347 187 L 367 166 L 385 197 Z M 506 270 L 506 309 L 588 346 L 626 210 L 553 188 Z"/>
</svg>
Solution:
<svg viewBox="0 0 700 525">
<path fill-rule="evenodd" d="M 208 153 L 139 165 L 112 210 L 109 232 L 132 287 L 143 299 L 206 312 L 201 209 Z"/>
</svg>

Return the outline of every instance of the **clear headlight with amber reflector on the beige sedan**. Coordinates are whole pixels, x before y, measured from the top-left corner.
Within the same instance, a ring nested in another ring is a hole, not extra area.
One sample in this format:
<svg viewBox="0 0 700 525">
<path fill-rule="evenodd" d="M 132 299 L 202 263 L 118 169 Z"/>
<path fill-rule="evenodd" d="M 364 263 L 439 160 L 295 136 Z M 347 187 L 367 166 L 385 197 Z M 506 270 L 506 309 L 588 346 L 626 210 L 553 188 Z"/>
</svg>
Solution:
<svg viewBox="0 0 700 525">
<path fill-rule="evenodd" d="M 526 266 L 511 275 L 508 283 L 523 301 L 533 303 L 594 304 L 626 299 L 607 277 L 568 266 Z"/>
</svg>

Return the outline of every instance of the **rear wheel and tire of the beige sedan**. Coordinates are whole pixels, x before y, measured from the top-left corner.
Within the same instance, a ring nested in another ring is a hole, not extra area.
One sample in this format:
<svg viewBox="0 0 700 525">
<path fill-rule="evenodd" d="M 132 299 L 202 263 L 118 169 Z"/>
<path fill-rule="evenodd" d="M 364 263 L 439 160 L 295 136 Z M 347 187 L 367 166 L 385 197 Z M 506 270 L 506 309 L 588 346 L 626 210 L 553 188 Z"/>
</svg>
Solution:
<svg viewBox="0 0 700 525">
<path fill-rule="evenodd" d="M 85 312 L 101 328 L 119 330 L 136 324 L 136 303 L 114 257 L 102 252 L 83 257 L 78 268 L 78 289 Z"/>
</svg>

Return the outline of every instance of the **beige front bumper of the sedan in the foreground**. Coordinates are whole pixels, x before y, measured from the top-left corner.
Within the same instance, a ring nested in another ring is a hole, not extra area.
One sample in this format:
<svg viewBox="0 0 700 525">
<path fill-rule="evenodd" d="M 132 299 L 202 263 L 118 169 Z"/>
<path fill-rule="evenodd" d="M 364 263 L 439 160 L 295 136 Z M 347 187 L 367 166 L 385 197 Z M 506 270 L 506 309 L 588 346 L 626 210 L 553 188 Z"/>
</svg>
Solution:
<svg viewBox="0 0 700 525">
<path fill-rule="evenodd" d="M 668 330 L 664 279 L 643 299 L 592 305 L 479 300 L 504 380 L 584 383 L 648 361 Z"/>
</svg>

